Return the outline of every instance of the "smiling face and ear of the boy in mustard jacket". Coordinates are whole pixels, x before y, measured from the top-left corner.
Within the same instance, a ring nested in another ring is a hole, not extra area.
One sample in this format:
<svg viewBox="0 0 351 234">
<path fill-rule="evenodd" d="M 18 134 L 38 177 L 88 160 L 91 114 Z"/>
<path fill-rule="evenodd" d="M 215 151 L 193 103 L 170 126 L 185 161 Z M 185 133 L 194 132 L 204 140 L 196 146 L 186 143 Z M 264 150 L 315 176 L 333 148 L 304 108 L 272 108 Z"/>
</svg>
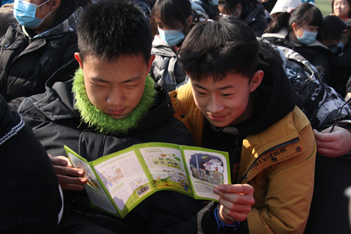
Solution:
<svg viewBox="0 0 351 234">
<path fill-rule="evenodd" d="M 263 78 L 259 70 L 251 81 L 230 72 L 224 79 L 213 82 L 211 77 L 192 82 L 195 104 L 211 124 L 217 127 L 239 124 L 251 116 L 254 96 Z"/>
</svg>

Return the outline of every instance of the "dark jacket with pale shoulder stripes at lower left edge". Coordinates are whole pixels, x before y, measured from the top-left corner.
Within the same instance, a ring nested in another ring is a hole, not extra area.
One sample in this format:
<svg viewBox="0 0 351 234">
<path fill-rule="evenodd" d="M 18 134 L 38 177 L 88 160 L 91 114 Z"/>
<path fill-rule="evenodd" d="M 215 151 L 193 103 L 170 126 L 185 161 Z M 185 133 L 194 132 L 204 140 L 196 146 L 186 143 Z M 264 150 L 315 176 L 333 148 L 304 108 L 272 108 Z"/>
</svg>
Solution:
<svg viewBox="0 0 351 234">
<path fill-rule="evenodd" d="M 58 233 L 63 207 L 53 166 L 1 95 L 0 152 L 0 233 Z"/>
</svg>

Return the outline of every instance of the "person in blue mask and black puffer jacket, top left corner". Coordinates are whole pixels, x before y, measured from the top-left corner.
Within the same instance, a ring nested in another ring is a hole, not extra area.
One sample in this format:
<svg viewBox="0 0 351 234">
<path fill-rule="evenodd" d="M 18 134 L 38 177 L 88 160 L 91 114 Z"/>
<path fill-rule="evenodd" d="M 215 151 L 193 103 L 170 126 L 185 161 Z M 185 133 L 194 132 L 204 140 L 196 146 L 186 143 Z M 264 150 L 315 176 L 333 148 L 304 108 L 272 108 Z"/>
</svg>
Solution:
<svg viewBox="0 0 351 234">
<path fill-rule="evenodd" d="M 57 70 L 74 75 L 79 67 L 77 0 L 15 0 L 11 25 L 0 41 L 0 93 L 9 102 L 44 93 Z M 67 65 L 69 64 L 69 65 Z"/>
</svg>

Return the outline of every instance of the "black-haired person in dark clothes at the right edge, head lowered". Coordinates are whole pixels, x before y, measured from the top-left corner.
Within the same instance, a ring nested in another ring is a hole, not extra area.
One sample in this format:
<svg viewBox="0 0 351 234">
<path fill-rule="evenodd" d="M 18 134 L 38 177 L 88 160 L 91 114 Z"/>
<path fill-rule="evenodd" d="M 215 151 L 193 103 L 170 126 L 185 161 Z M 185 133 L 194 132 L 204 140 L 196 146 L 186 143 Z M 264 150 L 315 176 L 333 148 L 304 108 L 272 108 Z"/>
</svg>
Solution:
<svg viewBox="0 0 351 234">
<path fill-rule="evenodd" d="M 319 30 L 318 38 L 328 46 L 331 64 L 332 79 L 326 84 L 333 87 L 341 96 L 346 95 L 346 83 L 351 75 L 351 46 L 350 34 L 344 20 L 336 15 L 328 15 L 323 19 L 322 30 Z"/>
</svg>

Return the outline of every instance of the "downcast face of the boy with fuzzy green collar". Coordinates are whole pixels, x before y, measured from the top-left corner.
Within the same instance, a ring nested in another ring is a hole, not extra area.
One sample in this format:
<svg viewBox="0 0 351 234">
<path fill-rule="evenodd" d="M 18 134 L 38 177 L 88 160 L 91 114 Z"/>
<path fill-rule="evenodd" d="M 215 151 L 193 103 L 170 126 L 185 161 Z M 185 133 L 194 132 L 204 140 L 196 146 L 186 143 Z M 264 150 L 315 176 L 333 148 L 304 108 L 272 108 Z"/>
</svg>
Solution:
<svg viewBox="0 0 351 234">
<path fill-rule="evenodd" d="M 89 100 L 107 115 L 123 119 L 143 96 L 148 68 L 143 56 L 121 56 L 114 62 L 86 56 L 82 70 Z"/>
</svg>

